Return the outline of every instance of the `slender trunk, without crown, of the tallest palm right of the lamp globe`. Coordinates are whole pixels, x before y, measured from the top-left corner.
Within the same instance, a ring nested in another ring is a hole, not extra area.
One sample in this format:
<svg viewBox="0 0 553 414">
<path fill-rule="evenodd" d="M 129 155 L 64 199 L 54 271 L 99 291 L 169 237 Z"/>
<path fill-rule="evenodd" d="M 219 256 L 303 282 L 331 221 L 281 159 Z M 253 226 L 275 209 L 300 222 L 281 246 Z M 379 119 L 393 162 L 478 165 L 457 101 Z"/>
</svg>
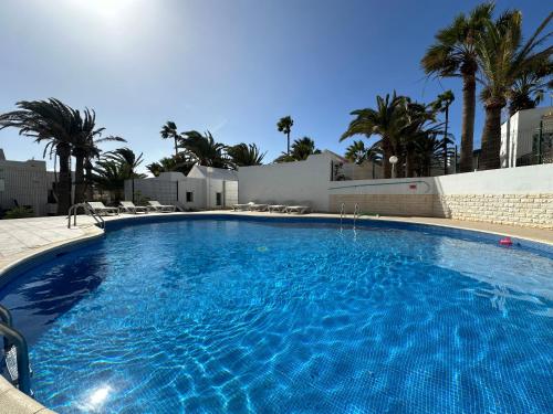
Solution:
<svg viewBox="0 0 553 414">
<path fill-rule="evenodd" d="M 477 82 L 474 73 L 462 75 L 462 126 L 461 126 L 461 172 L 472 171 L 472 146 L 474 139 L 474 110 L 477 106 Z"/>
</svg>

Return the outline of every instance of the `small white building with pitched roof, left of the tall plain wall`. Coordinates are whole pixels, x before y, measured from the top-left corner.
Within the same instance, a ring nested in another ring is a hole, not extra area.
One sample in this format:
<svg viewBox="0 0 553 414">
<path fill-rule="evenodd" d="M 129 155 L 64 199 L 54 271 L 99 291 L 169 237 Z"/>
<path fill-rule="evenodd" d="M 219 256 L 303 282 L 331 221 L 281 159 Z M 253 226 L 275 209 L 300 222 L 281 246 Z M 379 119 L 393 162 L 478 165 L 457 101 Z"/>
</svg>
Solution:
<svg viewBox="0 0 553 414">
<path fill-rule="evenodd" d="M 134 189 L 134 190 L 133 190 Z M 125 181 L 125 199 L 148 198 L 185 210 L 226 209 L 238 202 L 237 172 L 194 166 L 187 177 L 161 172 L 159 177 Z"/>
</svg>

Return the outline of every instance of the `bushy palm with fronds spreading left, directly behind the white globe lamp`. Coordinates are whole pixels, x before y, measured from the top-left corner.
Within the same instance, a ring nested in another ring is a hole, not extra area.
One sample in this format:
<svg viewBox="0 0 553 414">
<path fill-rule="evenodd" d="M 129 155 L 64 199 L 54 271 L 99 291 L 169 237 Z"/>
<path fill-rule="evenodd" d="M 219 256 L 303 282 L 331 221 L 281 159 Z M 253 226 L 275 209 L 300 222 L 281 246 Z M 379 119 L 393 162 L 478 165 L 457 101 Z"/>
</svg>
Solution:
<svg viewBox="0 0 553 414">
<path fill-rule="evenodd" d="M 399 157 L 401 128 L 405 126 L 405 98 L 396 93 L 386 97 L 376 97 L 376 109 L 365 108 L 352 112 L 355 119 L 349 123 L 347 130 L 340 138 L 343 141 L 355 135 L 371 138 L 373 135 L 380 137 L 379 146 L 384 156 L 384 177 L 392 177 L 389 157 Z"/>
</svg>

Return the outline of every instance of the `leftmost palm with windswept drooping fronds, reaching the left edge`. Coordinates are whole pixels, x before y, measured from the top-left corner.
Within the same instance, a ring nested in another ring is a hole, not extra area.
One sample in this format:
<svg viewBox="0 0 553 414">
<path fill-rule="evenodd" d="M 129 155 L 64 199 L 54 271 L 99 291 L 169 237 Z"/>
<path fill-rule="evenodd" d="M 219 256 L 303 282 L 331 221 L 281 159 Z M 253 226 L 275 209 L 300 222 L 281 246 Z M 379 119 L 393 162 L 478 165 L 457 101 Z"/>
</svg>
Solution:
<svg viewBox="0 0 553 414">
<path fill-rule="evenodd" d="M 82 125 L 74 109 L 59 99 L 21 100 L 20 109 L 0 115 L 0 129 L 13 127 L 20 135 L 46 142 L 43 157 L 50 151 L 59 159 L 59 182 L 55 185 L 58 214 L 67 214 L 71 206 L 71 149 L 77 140 Z"/>
</svg>

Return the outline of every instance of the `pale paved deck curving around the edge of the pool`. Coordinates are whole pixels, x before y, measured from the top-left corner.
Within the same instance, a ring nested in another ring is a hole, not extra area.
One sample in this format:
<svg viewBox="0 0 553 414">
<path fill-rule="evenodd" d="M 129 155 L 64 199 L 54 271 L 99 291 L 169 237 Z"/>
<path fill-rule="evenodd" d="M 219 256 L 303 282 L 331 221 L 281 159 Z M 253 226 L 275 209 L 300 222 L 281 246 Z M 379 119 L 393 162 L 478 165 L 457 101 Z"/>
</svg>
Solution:
<svg viewBox="0 0 553 414">
<path fill-rule="evenodd" d="M 161 215 L 201 215 L 201 214 L 225 214 L 229 217 L 236 215 L 243 216 L 290 216 L 283 213 L 267 212 L 232 212 L 232 211 L 205 211 L 195 213 L 149 213 L 149 214 L 121 214 L 117 216 L 104 217 L 106 222 L 117 220 L 133 220 L 140 217 L 152 217 Z M 299 216 L 294 214 L 294 216 Z M 305 214 L 304 217 L 337 217 L 337 214 Z M 352 219 L 352 215 L 346 215 Z M 416 224 L 430 224 L 442 227 L 465 229 L 498 235 L 511 236 L 514 238 L 530 240 L 553 245 L 553 231 L 507 226 L 501 224 L 490 224 L 483 222 L 468 222 L 449 219 L 435 217 L 359 217 L 358 220 L 394 221 Z M 67 229 L 67 219 L 63 216 L 15 219 L 0 221 L 0 287 L 2 286 L 2 275 L 11 268 L 27 263 L 36 255 L 46 254 L 58 247 L 67 247 L 74 243 L 94 240 L 104 234 L 104 231 L 94 224 L 94 220 L 86 215 L 77 216 L 77 225 Z M 24 413 L 24 414 L 46 414 L 52 411 L 43 407 L 34 400 L 20 393 L 8 381 L 0 375 L 0 412 L 1 413 Z"/>
</svg>

